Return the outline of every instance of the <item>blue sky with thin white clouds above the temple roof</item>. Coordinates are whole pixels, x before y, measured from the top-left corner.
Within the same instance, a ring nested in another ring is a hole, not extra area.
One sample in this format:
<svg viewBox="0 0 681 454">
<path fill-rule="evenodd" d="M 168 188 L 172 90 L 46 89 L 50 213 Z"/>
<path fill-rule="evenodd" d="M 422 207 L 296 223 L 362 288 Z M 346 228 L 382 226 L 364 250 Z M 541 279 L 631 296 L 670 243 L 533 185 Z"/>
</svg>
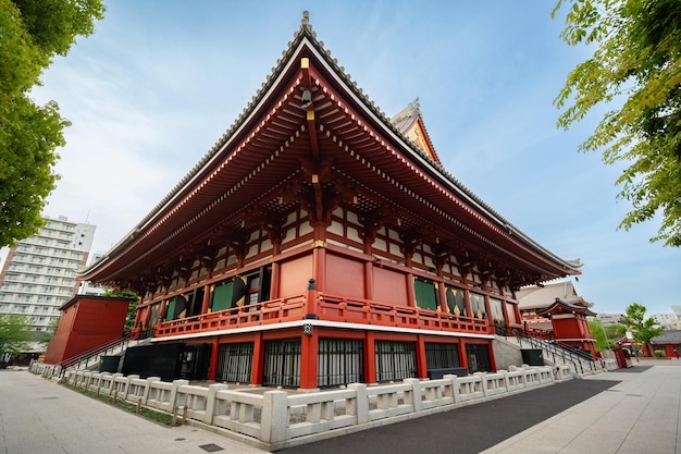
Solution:
<svg viewBox="0 0 681 454">
<path fill-rule="evenodd" d="M 557 128 L 553 99 L 590 49 L 559 38 L 552 2 L 108 1 L 92 36 L 34 90 L 73 125 L 47 216 L 97 225 L 92 251 L 126 235 L 200 160 L 276 65 L 302 11 L 318 39 L 388 116 L 417 97 L 444 167 L 565 259 L 599 312 L 681 304 L 681 251 L 656 223 L 617 226 L 606 165 L 578 146 L 599 119 Z"/>
</svg>

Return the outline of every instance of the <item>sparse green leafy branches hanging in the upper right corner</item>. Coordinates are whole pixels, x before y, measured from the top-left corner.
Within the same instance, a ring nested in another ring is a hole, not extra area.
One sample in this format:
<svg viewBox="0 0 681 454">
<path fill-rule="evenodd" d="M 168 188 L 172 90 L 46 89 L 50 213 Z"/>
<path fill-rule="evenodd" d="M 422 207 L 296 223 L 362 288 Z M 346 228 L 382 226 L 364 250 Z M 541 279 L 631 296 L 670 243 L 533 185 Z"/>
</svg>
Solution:
<svg viewBox="0 0 681 454">
<path fill-rule="evenodd" d="M 681 246 L 681 2 L 679 0 L 558 0 L 569 8 L 562 39 L 595 45 L 555 99 L 568 128 L 596 106 L 607 111 L 582 151 L 628 168 L 618 198 L 632 209 L 619 228 L 661 217 L 652 242 Z"/>
</svg>

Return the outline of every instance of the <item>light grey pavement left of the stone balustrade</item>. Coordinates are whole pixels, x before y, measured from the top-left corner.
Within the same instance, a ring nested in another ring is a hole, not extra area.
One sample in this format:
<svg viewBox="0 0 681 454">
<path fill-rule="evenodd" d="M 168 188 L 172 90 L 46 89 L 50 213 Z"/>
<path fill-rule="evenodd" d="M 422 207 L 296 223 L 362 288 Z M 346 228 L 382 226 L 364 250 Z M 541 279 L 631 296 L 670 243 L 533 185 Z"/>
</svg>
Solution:
<svg viewBox="0 0 681 454">
<path fill-rule="evenodd" d="M 165 427 L 27 371 L 0 370 L 0 454 L 257 454 L 191 426 Z"/>
</svg>

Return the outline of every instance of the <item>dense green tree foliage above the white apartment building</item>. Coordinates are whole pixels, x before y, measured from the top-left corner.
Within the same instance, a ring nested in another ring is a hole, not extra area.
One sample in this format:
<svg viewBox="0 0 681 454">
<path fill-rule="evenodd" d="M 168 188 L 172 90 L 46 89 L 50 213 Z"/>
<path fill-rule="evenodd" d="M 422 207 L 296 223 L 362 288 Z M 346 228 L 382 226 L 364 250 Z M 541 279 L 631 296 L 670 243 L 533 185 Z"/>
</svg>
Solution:
<svg viewBox="0 0 681 454">
<path fill-rule="evenodd" d="M 0 247 L 34 235 L 59 180 L 65 144 L 55 102 L 37 106 L 29 90 L 54 56 L 102 19 L 101 0 L 0 0 Z"/>
</svg>

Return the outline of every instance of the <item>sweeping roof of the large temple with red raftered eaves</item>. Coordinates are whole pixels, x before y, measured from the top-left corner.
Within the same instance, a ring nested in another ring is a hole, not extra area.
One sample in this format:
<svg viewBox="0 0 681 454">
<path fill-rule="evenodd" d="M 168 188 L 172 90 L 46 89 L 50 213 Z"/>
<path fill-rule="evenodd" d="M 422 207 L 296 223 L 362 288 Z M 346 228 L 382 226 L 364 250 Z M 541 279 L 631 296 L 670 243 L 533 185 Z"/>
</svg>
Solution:
<svg viewBox="0 0 681 454">
<path fill-rule="evenodd" d="M 134 279 L 215 229 L 248 226 L 255 214 L 276 216 L 301 196 L 312 175 L 338 198 L 351 194 L 361 212 L 391 211 L 401 229 L 431 232 L 462 254 L 530 280 L 580 272 L 579 262 L 560 259 L 524 235 L 406 137 L 304 21 L 239 119 L 81 279 Z"/>
</svg>

